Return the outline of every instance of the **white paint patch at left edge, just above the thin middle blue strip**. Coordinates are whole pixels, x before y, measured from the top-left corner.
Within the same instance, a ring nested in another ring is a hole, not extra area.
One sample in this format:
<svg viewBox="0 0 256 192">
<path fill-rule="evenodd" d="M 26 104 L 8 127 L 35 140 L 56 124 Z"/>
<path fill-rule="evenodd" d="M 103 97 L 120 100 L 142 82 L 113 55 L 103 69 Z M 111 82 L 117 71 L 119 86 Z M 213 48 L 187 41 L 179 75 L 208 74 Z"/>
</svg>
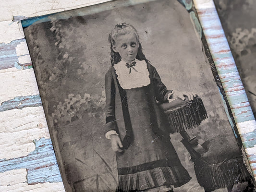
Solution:
<svg viewBox="0 0 256 192">
<path fill-rule="evenodd" d="M 0 104 L 16 96 L 38 95 L 37 81 L 33 69 L 1 72 L 0 70 Z"/>
</svg>

